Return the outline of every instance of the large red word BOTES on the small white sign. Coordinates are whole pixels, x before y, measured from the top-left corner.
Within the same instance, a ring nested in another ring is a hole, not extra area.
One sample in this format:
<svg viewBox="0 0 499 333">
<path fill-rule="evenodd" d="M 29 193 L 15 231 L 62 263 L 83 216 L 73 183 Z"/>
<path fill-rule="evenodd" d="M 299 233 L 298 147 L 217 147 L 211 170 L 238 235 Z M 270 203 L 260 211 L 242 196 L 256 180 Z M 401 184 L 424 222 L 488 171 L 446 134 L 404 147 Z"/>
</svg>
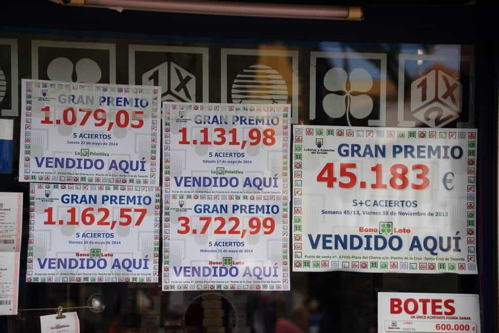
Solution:
<svg viewBox="0 0 499 333">
<path fill-rule="evenodd" d="M 442 298 L 390 298 L 390 313 L 399 314 L 431 314 L 431 315 L 452 315 L 456 313 L 454 299 Z"/>
</svg>

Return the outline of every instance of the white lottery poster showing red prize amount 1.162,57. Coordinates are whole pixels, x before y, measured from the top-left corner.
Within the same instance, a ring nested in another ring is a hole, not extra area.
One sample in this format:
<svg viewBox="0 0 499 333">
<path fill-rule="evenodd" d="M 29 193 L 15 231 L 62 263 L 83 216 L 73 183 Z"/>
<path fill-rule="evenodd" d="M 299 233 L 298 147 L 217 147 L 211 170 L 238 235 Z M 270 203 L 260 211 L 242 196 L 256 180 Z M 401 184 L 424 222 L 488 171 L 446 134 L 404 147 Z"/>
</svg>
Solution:
<svg viewBox="0 0 499 333">
<path fill-rule="evenodd" d="M 27 282 L 158 282 L 160 187 L 30 184 Z"/>
</svg>

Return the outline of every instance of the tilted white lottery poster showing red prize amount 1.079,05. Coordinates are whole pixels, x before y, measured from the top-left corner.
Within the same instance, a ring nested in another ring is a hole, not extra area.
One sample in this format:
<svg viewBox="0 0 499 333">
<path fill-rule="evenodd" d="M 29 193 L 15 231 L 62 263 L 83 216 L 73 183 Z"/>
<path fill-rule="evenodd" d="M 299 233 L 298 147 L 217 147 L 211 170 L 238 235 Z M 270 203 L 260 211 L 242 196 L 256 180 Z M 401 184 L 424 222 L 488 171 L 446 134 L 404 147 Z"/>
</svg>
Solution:
<svg viewBox="0 0 499 333">
<path fill-rule="evenodd" d="M 158 185 L 160 89 L 23 79 L 19 180 Z"/>
</svg>

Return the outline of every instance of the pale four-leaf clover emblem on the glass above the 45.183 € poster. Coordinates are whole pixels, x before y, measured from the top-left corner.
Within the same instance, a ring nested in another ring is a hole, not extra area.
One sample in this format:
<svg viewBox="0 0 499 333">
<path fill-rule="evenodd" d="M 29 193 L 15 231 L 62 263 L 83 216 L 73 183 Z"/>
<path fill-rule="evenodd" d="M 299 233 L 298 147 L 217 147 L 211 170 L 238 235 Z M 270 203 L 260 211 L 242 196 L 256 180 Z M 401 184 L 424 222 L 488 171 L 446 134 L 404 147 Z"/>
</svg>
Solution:
<svg viewBox="0 0 499 333">
<path fill-rule="evenodd" d="M 329 69 L 324 75 L 324 87 L 330 91 L 322 99 L 322 107 L 331 118 L 347 116 L 367 117 L 373 110 L 373 99 L 366 94 L 373 87 L 371 74 L 363 68 L 354 68 L 350 74 L 340 67 Z"/>
</svg>

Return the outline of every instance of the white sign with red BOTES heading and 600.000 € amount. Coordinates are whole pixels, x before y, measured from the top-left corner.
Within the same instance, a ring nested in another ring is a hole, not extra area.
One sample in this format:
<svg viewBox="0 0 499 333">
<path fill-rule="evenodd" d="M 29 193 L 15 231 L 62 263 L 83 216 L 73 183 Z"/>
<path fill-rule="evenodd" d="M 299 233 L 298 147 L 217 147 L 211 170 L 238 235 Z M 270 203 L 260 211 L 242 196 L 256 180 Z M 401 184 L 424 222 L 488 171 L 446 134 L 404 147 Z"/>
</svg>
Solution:
<svg viewBox="0 0 499 333">
<path fill-rule="evenodd" d="M 475 294 L 378 292 L 378 333 L 480 333 Z"/>
</svg>

